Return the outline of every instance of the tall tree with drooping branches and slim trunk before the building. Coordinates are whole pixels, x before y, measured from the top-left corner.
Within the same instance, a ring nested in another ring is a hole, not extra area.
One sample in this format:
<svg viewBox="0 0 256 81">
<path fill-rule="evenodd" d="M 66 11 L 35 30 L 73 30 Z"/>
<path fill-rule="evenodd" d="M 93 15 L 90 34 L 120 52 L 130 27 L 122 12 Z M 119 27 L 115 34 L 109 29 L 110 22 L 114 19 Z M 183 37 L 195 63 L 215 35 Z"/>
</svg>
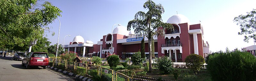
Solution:
<svg viewBox="0 0 256 81">
<path fill-rule="evenodd" d="M 152 38 L 153 36 L 163 36 L 164 30 L 173 29 L 173 26 L 172 24 L 162 22 L 161 14 L 164 13 L 162 4 L 155 4 L 152 0 L 148 0 L 143 7 L 148 12 L 137 12 L 134 19 L 128 22 L 127 30 L 133 28 L 137 37 L 144 35 L 144 37 L 148 38 L 149 72 L 152 72 Z"/>
</svg>

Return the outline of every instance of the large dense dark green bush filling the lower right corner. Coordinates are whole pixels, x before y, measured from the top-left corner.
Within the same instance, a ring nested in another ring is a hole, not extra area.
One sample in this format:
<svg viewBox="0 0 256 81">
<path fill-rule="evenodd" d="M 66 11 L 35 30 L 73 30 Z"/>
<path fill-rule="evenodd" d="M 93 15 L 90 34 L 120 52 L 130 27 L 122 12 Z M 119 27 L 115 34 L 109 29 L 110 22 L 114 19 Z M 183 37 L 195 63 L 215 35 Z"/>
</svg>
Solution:
<svg viewBox="0 0 256 81">
<path fill-rule="evenodd" d="M 255 81 L 256 58 L 249 52 L 217 53 L 209 56 L 207 70 L 213 81 Z"/>
</svg>

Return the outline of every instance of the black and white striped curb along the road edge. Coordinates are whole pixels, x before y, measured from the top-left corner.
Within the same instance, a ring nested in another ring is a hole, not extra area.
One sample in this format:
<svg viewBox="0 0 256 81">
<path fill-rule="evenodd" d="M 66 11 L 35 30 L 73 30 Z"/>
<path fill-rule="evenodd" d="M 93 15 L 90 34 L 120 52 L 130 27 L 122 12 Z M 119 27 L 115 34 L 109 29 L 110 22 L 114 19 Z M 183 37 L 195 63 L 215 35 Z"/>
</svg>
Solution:
<svg viewBox="0 0 256 81">
<path fill-rule="evenodd" d="M 48 68 L 51 68 L 52 70 L 56 70 L 56 71 L 59 71 L 59 72 L 62 72 L 64 74 L 67 74 L 69 76 L 73 76 L 73 77 L 77 77 L 79 78 L 80 80 L 82 81 L 92 81 L 91 78 L 88 78 L 88 77 L 84 77 L 84 76 L 80 76 L 80 75 L 76 75 L 74 73 L 71 73 L 71 72 L 68 72 L 68 71 L 65 71 L 65 70 L 61 70 L 61 69 L 58 69 L 58 68 L 55 68 L 55 67 L 51 67 L 51 66 L 47 66 Z"/>
</svg>

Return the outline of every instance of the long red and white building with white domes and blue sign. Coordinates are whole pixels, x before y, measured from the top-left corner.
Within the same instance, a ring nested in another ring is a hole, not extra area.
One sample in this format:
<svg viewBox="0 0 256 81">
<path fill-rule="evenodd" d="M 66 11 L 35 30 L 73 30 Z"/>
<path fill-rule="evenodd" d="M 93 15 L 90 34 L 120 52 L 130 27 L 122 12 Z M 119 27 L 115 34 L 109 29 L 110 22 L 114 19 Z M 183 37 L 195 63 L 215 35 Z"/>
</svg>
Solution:
<svg viewBox="0 0 256 81">
<path fill-rule="evenodd" d="M 201 24 L 190 25 L 187 17 L 181 14 L 174 15 L 167 20 L 174 26 L 174 30 L 165 30 L 164 37 L 154 37 L 155 56 L 169 56 L 173 61 L 184 61 L 190 54 L 198 54 L 205 57 L 209 54 L 209 44 L 204 41 L 204 31 Z M 64 45 L 66 51 L 76 51 L 78 54 L 88 56 L 96 55 L 106 58 L 111 47 L 111 33 L 108 33 L 97 42 L 85 42 L 83 37 L 75 37 L 70 45 Z M 127 31 L 124 26 L 118 26 L 113 30 L 114 53 L 120 58 L 131 57 L 134 52 L 141 50 L 142 37 L 134 35 L 134 31 Z M 83 49 L 83 51 L 82 51 Z M 145 54 L 148 58 L 148 38 L 145 37 Z"/>
</svg>

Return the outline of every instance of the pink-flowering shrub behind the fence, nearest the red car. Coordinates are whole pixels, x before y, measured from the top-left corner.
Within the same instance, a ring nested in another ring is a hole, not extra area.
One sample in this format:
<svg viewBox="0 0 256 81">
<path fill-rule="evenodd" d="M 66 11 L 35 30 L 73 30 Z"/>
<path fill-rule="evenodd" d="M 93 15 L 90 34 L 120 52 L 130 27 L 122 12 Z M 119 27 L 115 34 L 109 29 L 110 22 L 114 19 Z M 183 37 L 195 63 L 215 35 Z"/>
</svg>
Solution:
<svg viewBox="0 0 256 81">
<path fill-rule="evenodd" d="M 76 52 L 72 52 L 72 51 L 65 52 L 60 55 L 61 59 L 67 59 L 68 61 L 72 61 L 72 62 L 76 57 L 78 57 L 78 55 L 76 54 Z"/>
</svg>

